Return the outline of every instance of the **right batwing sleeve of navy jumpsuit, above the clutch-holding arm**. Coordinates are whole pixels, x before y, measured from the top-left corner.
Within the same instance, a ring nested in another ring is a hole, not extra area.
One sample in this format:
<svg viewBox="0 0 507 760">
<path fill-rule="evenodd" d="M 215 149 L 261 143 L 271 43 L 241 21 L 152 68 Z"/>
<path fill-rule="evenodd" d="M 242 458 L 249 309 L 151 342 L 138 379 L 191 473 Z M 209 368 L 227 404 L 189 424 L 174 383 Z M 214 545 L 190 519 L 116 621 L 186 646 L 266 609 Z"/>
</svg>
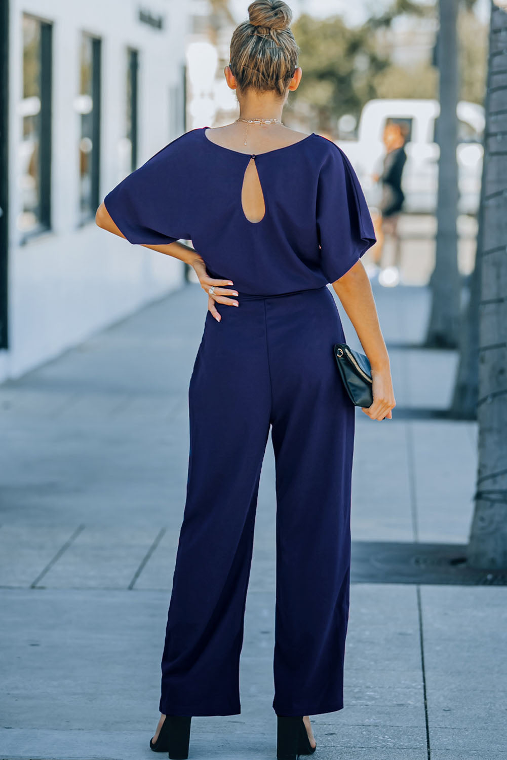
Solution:
<svg viewBox="0 0 507 760">
<path fill-rule="evenodd" d="M 318 176 L 316 212 L 320 265 L 333 283 L 376 242 L 363 188 L 334 143 Z"/>
</svg>

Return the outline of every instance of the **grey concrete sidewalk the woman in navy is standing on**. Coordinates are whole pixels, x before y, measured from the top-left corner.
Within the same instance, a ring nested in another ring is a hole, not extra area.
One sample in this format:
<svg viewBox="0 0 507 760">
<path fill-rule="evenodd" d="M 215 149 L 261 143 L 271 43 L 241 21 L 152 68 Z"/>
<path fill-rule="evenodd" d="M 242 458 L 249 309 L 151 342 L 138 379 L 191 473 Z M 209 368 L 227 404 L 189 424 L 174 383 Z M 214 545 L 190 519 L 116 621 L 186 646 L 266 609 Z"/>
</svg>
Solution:
<svg viewBox="0 0 507 760">
<path fill-rule="evenodd" d="M 315 757 L 500 760 L 507 589 L 438 582 L 438 574 L 407 582 L 393 570 L 407 549 L 467 542 L 477 426 L 435 415 L 448 406 L 455 352 L 399 347 L 423 336 L 427 290 L 375 287 L 375 299 L 397 407 L 383 423 L 357 410 L 345 708 L 312 716 Z M 0 461 L 0 758 L 153 756 L 187 475 L 188 382 L 205 308 L 189 285 L 0 386 L 9 444 Z M 242 714 L 194 718 L 192 758 L 276 756 L 274 508 L 268 442 Z M 432 562 L 442 564 L 438 551 Z"/>
</svg>

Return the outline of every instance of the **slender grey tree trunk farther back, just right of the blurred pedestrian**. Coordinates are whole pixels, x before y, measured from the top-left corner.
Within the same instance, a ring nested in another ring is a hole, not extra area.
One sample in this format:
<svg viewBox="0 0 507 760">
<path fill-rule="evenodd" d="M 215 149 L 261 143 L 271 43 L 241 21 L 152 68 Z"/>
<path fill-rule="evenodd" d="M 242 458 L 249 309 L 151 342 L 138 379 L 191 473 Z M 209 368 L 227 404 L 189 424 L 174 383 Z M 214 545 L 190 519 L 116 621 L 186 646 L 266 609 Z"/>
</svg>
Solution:
<svg viewBox="0 0 507 760">
<path fill-rule="evenodd" d="M 439 66 L 440 115 L 436 120 L 439 144 L 439 185 L 436 207 L 436 261 L 429 280 L 432 306 L 425 345 L 458 346 L 461 282 L 458 271 L 458 46 L 456 24 L 459 0 L 440 0 L 440 27 L 436 41 Z"/>
</svg>

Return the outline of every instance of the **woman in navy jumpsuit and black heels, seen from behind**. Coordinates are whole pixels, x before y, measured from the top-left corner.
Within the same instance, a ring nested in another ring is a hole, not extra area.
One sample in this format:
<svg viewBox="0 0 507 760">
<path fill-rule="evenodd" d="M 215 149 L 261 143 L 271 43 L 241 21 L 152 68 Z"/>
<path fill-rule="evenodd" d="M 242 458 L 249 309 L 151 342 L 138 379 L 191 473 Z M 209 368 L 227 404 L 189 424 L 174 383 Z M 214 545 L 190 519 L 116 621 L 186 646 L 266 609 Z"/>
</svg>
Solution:
<svg viewBox="0 0 507 760">
<path fill-rule="evenodd" d="M 252 2 L 224 72 L 239 118 L 176 138 L 97 211 L 104 229 L 190 264 L 208 294 L 189 385 L 189 472 L 161 716 L 150 741 L 170 758 L 188 757 L 192 716 L 240 712 L 239 654 L 270 426 L 277 758 L 313 752 L 309 715 L 343 708 L 354 407 L 334 363 L 344 332 L 328 283 L 372 364 L 374 401 L 363 412 L 391 419 L 395 406 L 360 262 L 375 236 L 359 182 L 333 142 L 280 121 L 302 74 L 290 21 L 284 2 Z"/>
</svg>

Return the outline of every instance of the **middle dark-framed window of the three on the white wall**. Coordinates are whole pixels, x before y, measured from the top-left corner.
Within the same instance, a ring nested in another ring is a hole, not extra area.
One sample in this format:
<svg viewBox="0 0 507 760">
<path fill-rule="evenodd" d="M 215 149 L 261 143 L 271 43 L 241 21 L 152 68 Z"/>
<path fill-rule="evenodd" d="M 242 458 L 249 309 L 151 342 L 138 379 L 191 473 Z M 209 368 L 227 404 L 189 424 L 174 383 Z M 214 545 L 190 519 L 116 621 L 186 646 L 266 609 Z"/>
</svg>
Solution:
<svg viewBox="0 0 507 760">
<path fill-rule="evenodd" d="M 79 95 L 79 210 L 81 223 L 93 219 L 100 202 L 100 40 L 81 36 Z"/>
</svg>

